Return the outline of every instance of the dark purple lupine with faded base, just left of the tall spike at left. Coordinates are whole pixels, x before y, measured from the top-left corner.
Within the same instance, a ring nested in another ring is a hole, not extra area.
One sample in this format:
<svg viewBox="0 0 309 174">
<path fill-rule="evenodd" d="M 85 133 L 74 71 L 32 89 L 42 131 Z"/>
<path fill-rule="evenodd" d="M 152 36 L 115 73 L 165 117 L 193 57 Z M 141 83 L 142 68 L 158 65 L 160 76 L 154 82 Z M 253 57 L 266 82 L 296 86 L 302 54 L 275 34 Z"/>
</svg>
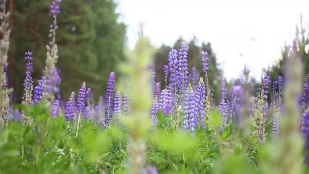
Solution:
<svg viewBox="0 0 309 174">
<path fill-rule="evenodd" d="M 23 104 L 27 107 L 32 105 L 32 91 L 33 91 L 33 80 L 32 80 L 32 73 L 33 73 L 33 57 L 32 52 L 27 51 L 25 53 L 25 60 L 26 63 L 26 78 L 23 83 L 24 85 L 24 96 L 23 96 Z"/>
</svg>

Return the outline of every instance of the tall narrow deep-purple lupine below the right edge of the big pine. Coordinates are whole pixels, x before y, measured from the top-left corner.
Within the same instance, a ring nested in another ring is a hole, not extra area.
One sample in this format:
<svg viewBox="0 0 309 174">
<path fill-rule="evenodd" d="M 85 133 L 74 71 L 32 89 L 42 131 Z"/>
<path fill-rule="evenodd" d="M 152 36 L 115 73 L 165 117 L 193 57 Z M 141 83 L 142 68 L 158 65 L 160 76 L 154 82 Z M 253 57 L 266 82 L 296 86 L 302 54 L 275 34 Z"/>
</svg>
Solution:
<svg viewBox="0 0 309 174">
<path fill-rule="evenodd" d="M 107 125 L 111 123 L 111 119 L 113 117 L 114 87 L 115 87 L 115 74 L 114 72 L 111 72 L 107 82 L 106 97 L 105 97 L 105 119 Z"/>
</svg>

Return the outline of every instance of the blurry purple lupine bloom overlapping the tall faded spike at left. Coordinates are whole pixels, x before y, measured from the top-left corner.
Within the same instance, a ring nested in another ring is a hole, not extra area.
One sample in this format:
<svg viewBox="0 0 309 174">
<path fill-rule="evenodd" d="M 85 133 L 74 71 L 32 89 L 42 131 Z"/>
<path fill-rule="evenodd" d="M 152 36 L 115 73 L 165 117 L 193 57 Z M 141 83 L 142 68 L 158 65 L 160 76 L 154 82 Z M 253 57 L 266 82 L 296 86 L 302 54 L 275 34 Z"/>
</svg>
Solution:
<svg viewBox="0 0 309 174">
<path fill-rule="evenodd" d="M 50 69 L 46 80 L 47 93 L 57 94 L 60 92 L 59 84 L 61 78 L 59 76 L 59 70 L 56 68 Z"/>
</svg>

